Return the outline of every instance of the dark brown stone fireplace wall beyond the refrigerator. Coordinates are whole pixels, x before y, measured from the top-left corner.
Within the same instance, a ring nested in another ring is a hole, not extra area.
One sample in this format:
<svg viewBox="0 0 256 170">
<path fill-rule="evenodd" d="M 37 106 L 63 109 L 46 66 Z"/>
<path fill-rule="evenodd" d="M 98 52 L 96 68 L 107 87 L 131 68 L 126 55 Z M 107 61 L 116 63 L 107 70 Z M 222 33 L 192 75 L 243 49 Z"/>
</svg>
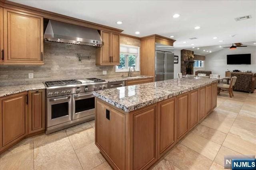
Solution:
<svg viewBox="0 0 256 170">
<path fill-rule="evenodd" d="M 193 68 L 194 68 L 194 62 L 189 62 L 189 58 L 188 56 L 190 55 L 194 55 L 194 51 L 190 51 L 190 50 L 181 50 L 181 72 L 182 75 L 186 75 L 186 74 L 193 74 Z M 187 70 L 191 70 L 191 73 L 188 73 Z"/>
</svg>

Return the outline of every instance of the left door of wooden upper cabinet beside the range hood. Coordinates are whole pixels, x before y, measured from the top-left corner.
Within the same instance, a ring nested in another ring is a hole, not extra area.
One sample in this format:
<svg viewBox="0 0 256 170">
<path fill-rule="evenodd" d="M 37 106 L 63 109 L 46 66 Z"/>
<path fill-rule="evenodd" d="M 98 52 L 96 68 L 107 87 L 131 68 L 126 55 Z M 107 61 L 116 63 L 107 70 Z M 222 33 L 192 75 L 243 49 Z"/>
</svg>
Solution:
<svg viewBox="0 0 256 170">
<path fill-rule="evenodd" d="M 102 31 L 102 63 L 111 63 L 111 36 L 110 32 Z"/>
</svg>

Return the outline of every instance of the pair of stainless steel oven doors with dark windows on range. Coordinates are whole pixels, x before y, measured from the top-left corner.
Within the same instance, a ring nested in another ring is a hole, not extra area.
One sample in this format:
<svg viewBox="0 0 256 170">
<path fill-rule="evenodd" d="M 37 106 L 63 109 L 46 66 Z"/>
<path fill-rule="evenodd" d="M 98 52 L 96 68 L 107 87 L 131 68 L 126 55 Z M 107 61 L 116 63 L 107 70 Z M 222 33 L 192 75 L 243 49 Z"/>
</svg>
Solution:
<svg viewBox="0 0 256 170">
<path fill-rule="evenodd" d="M 92 92 L 47 98 L 47 127 L 95 114 Z"/>
</svg>

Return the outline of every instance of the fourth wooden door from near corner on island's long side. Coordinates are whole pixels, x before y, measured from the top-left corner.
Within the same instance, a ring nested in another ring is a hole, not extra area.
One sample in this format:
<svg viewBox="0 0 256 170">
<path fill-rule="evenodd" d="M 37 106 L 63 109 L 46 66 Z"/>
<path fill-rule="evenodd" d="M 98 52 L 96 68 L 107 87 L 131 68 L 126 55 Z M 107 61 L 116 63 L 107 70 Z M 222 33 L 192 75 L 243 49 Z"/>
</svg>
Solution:
<svg viewBox="0 0 256 170">
<path fill-rule="evenodd" d="M 189 92 L 189 129 L 198 123 L 198 89 Z"/>
</svg>

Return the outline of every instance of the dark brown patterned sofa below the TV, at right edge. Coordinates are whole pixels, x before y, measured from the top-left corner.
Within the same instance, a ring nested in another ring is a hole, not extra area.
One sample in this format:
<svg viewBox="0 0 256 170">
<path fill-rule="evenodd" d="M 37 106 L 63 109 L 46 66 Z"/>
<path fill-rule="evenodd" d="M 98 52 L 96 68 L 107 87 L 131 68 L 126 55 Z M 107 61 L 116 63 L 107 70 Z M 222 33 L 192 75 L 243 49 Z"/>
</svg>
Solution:
<svg viewBox="0 0 256 170">
<path fill-rule="evenodd" d="M 253 93 L 255 88 L 255 78 L 251 72 L 231 72 L 231 77 L 236 76 L 236 84 L 233 89 Z"/>
</svg>

